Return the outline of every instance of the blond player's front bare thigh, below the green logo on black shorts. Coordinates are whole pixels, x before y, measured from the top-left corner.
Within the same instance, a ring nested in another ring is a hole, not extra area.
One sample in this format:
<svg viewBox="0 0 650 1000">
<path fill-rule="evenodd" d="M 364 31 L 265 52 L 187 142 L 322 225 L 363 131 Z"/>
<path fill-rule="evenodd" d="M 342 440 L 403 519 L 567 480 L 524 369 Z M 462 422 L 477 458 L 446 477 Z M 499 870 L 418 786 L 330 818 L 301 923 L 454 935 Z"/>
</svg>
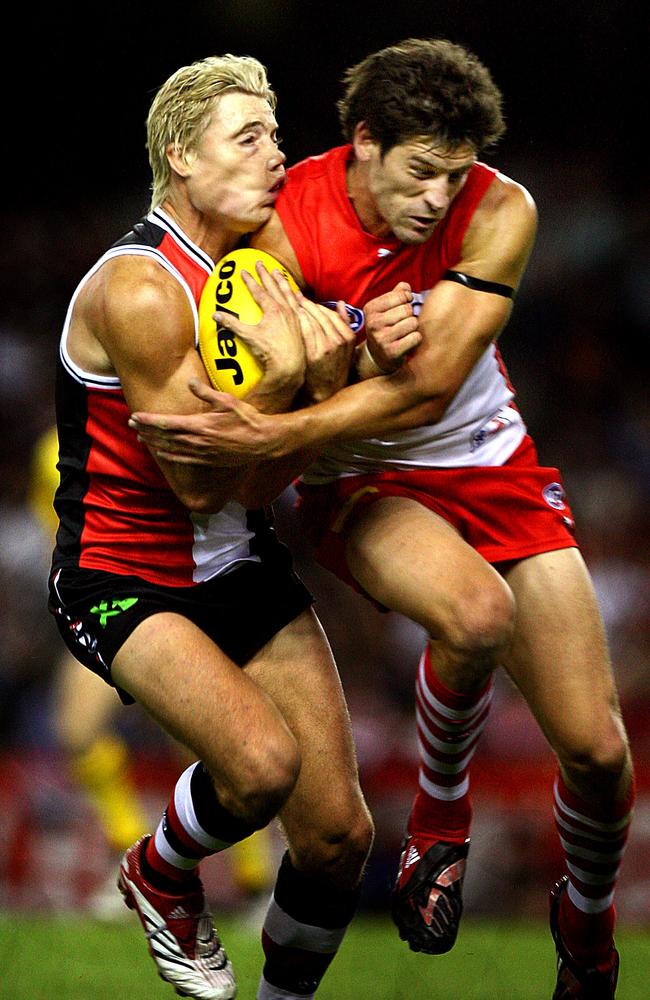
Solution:
<svg viewBox="0 0 650 1000">
<path fill-rule="evenodd" d="M 193 622 L 162 612 L 142 621 L 112 664 L 113 681 L 208 766 L 237 788 L 255 770 L 287 766 L 295 740 L 272 700 Z"/>
</svg>

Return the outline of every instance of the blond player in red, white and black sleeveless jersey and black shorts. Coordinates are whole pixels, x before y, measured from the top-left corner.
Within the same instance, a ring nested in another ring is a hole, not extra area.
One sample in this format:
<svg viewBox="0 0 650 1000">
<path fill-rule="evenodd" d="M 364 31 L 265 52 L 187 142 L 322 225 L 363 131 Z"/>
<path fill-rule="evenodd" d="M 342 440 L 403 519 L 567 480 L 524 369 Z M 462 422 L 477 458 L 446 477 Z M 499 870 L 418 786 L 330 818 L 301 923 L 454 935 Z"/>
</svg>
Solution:
<svg viewBox="0 0 650 1000">
<path fill-rule="evenodd" d="M 224 473 L 154 456 L 133 409 L 200 411 L 190 379 L 197 305 L 215 264 L 271 216 L 284 183 L 264 68 L 224 56 L 185 67 L 149 116 L 147 217 L 73 295 L 61 338 L 60 524 L 50 607 L 74 655 L 198 758 L 120 887 L 161 976 L 229 1000 L 232 965 L 198 866 L 278 817 L 287 851 L 265 923 L 259 1000 L 313 996 L 352 918 L 372 825 L 336 667 L 269 512 L 267 471 Z M 263 317 L 248 343 L 267 412 L 305 383 L 335 391 L 349 327 L 259 268 Z"/>
</svg>

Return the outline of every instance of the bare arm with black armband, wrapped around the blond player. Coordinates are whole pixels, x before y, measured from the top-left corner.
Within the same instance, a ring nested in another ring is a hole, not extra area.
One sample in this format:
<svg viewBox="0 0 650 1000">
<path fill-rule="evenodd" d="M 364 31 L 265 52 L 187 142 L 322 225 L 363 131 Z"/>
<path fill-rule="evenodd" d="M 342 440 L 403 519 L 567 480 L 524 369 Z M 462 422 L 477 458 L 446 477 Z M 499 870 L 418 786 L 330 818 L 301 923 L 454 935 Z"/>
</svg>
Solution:
<svg viewBox="0 0 650 1000">
<path fill-rule="evenodd" d="M 499 175 L 468 227 L 454 269 L 516 289 L 533 246 L 535 206 L 518 184 Z M 304 278 L 279 219 L 256 242 Z M 404 289 L 395 293 L 408 301 Z M 384 299 L 386 296 L 383 297 Z M 288 414 L 267 416 L 223 393 L 209 397 L 212 410 L 190 420 L 160 421 L 139 415 L 182 461 L 237 465 L 242 456 L 283 458 L 334 440 L 377 437 L 441 419 L 487 347 L 506 325 L 512 302 L 493 292 L 440 281 L 418 319 L 422 340 L 395 372 L 346 386 L 329 399 Z M 368 304 L 367 311 L 372 309 Z M 159 444 L 161 443 L 159 442 Z"/>
</svg>

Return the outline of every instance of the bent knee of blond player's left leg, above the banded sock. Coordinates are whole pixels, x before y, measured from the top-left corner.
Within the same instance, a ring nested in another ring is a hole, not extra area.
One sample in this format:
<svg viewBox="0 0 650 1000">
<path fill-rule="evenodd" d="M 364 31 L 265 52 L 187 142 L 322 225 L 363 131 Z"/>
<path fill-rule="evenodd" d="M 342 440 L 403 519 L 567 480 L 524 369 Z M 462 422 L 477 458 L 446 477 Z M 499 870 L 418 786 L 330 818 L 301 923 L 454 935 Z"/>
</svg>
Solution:
<svg viewBox="0 0 650 1000">
<path fill-rule="evenodd" d="M 268 825 L 291 795 L 300 774 L 298 744 L 287 731 L 240 754 L 236 774 L 218 784 L 223 805 L 256 829 Z M 222 770 L 217 767 L 212 773 Z"/>
</svg>

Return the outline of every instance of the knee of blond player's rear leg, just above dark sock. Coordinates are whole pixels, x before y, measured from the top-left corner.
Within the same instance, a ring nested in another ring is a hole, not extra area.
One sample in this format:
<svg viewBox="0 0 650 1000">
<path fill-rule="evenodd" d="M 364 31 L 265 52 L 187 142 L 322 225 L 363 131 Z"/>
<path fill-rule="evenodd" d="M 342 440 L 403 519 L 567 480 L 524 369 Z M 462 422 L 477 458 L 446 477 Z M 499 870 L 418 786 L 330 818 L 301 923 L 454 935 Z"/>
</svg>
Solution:
<svg viewBox="0 0 650 1000">
<path fill-rule="evenodd" d="M 374 825 L 365 802 L 347 815 L 331 816 L 320 828 L 301 829 L 291 837 L 298 867 L 342 889 L 360 881 L 374 839 Z"/>
</svg>

